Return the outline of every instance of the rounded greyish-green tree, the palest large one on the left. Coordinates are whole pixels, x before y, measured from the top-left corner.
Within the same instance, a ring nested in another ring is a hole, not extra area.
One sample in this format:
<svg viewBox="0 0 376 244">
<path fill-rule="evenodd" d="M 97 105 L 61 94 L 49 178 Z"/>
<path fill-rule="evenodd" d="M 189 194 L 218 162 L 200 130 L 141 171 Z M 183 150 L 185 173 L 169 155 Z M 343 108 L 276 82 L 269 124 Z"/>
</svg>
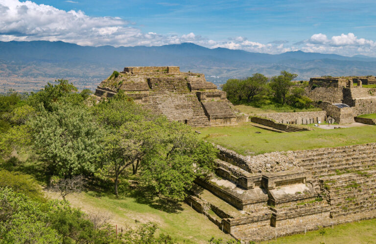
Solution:
<svg viewBox="0 0 376 244">
<path fill-rule="evenodd" d="M 102 130 L 84 105 L 56 104 L 30 122 L 35 149 L 47 164 L 48 176 L 71 177 L 95 171 Z"/>
</svg>

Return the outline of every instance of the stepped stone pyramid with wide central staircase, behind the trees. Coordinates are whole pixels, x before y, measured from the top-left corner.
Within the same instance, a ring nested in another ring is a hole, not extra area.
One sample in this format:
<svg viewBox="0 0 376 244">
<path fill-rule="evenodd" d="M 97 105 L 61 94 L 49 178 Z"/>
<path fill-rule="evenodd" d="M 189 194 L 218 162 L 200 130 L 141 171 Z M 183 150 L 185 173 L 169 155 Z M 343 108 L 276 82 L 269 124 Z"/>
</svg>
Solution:
<svg viewBox="0 0 376 244">
<path fill-rule="evenodd" d="M 180 72 L 176 66 L 125 67 L 103 80 L 95 96 L 112 97 L 118 90 L 172 121 L 194 127 L 237 123 L 226 92 L 206 81 L 204 74 Z"/>
</svg>

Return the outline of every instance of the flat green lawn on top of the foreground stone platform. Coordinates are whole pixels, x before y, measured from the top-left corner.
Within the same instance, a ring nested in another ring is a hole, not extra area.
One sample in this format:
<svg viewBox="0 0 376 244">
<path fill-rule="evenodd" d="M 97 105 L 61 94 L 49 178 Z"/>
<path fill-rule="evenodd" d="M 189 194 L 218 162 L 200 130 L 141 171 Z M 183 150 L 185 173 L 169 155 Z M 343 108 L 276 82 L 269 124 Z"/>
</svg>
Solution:
<svg viewBox="0 0 376 244">
<path fill-rule="evenodd" d="M 243 155 L 376 142 L 376 126 L 330 130 L 315 128 L 312 131 L 278 133 L 243 123 L 236 126 L 200 128 L 200 132 L 200 136 L 205 140 Z"/>
</svg>

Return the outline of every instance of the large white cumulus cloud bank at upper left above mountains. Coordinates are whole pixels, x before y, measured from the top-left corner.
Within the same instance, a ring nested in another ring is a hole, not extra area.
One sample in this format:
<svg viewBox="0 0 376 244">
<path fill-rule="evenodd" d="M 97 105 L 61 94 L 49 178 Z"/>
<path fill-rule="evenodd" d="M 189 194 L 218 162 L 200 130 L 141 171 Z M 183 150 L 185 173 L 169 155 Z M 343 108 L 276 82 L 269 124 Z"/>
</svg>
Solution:
<svg viewBox="0 0 376 244">
<path fill-rule="evenodd" d="M 118 17 L 91 17 L 80 10 L 64 11 L 32 1 L 3 0 L 0 3 L 1 41 L 59 40 L 78 45 L 118 47 L 202 40 L 192 32 L 182 36 L 143 33 L 133 24 Z"/>
</svg>

